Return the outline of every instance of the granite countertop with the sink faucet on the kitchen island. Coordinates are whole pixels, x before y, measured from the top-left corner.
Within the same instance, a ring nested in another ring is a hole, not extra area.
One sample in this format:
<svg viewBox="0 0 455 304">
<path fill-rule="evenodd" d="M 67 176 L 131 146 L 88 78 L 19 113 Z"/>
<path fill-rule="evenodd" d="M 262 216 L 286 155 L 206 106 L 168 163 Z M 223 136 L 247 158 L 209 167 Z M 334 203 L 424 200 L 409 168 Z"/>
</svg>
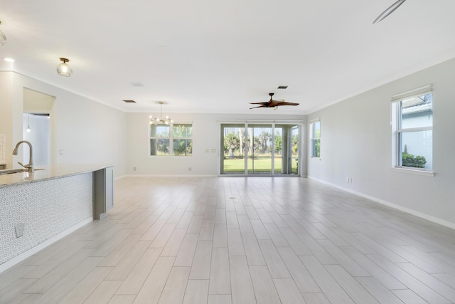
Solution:
<svg viewBox="0 0 455 304">
<path fill-rule="evenodd" d="M 59 177 L 68 177 L 71 175 L 94 172 L 107 167 L 113 167 L 112 164 L 59 164 L 50 167 L 36 167 L 33 173 L 20 172 L 13 174 L 0 175 L 0 187 L 6 187 L 12 184 L 23 184 L 30 182 L 40 182 L 46 179 L 55 179 Z M 1 171 L 1 170 L 0 170 Z"/>
</svg>

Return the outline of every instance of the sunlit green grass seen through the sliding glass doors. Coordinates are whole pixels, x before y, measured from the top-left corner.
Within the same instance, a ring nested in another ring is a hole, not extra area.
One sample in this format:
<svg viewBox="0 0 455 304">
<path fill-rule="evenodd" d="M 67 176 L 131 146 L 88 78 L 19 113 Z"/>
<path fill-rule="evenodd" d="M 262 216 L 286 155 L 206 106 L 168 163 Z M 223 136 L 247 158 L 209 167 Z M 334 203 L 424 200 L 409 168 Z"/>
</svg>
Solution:
<svg viewBox="0 0 455 304">
<path fill-rule="evenodd" d="M 272 172 L 272 160 L 270 157 L 255 157 L 255 173 L 270 173 Z M 245 172 L 245 159 L 229 158 L 224 159 L 224 173 L 243 173 Z M 253 164 L 251 159 L 248 159 L 248 172 L 252 172 Z M 275 157 L 275 173 L 282 172 L 282 158 Z M 292 173 L 297 173 L 297 161 L 292 159 Z"/>
</svg>

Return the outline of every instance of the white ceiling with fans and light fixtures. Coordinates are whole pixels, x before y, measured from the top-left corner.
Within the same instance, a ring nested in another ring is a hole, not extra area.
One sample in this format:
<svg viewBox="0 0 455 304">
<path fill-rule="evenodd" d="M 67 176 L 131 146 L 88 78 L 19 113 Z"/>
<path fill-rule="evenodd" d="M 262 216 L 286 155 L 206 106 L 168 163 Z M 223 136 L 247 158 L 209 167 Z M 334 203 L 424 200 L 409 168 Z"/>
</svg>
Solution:
<svg viewBox="0 0 455 304">
<path fill-rule="evenodd" d="M 455 57 L 454 0 L 407 0 L 373 25 L 393 2 L 0 0 L 0 59 L 126 112 L 307 114 Z M 269 92 L 300 105 L 249 110 Z"/>
</svg>

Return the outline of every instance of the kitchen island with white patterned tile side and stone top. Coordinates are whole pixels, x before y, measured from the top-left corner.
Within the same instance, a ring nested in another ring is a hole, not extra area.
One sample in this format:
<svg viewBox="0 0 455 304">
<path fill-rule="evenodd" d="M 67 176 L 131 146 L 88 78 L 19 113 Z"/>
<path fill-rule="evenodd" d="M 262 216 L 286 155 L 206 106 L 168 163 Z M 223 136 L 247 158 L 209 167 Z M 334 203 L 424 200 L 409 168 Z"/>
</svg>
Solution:
<svg viewBox="0 0 455 304">
<path fill-rule="evenodd" d="M 112 165 L 0 175 L 0 273 L 112 206 Z"/>
</svg>

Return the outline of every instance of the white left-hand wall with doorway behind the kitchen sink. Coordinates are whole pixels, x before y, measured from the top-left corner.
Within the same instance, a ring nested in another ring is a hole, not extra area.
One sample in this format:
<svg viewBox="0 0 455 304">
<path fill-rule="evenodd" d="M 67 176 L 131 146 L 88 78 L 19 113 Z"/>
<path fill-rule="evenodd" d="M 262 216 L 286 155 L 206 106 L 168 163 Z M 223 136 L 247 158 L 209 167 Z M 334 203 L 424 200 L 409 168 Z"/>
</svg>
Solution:
<svg viewBox="0 0 455 304">
<path fill-rule="evenodd" d="M 55 96 L 50 111 L 51 164 L 114 164 L 115 177 L 125 174 L 126 113 L 14 72 L 0 73 L 0 134 L 6 134 L 7 149 L 22 140 L 23 88 Z M 59 150 L 63 150 L 60 155 Z M 12 156 L 12 155 L 11 155 Z M 8 167 L 22 159 L 9 157 Z"/>
</svg>

